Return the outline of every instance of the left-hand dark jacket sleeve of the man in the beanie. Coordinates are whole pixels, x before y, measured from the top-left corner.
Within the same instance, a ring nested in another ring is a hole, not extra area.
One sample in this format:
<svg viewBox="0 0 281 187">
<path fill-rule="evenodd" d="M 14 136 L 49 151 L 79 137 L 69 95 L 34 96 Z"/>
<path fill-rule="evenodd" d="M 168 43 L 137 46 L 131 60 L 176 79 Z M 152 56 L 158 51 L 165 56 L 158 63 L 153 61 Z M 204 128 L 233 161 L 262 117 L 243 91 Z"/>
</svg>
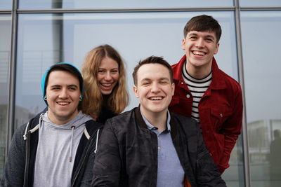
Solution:
<svg viewBox="0 0 281 187">
<path fill-rule="evenodd" d="M 4 175 L 1 179 L 1 186 L 23 186 L 25 176 L 24 127 L 25 125 L 22 125 L 13 134 L 4 167 Z"/>
</svg>

